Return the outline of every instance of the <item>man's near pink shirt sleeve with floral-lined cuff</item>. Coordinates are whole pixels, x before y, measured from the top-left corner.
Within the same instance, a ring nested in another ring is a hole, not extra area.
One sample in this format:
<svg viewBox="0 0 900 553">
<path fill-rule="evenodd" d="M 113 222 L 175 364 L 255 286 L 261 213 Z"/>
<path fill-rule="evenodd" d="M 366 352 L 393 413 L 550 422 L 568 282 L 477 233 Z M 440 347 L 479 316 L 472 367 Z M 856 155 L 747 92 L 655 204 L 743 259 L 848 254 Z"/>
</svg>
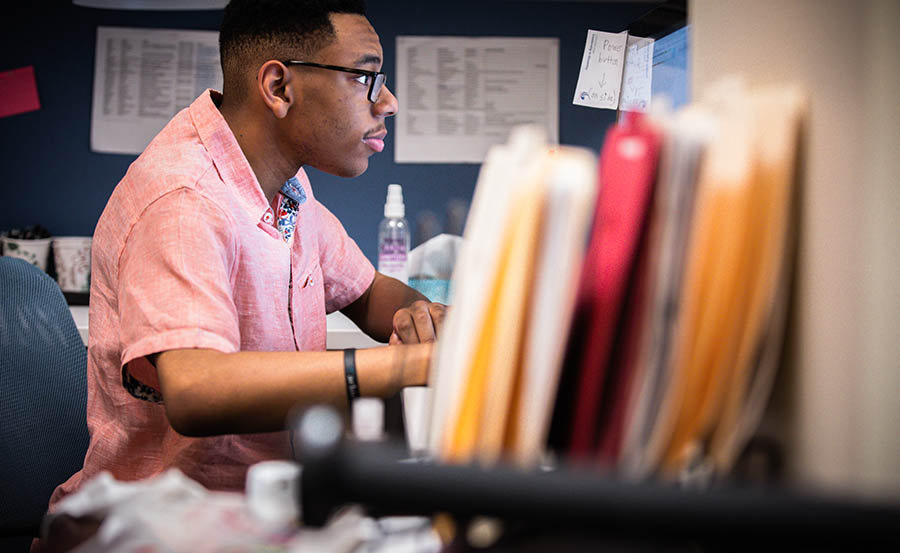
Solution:
<svg viewBox="0 0 900 553">
<path fill-rule="evenodd" d="M 234 228 L 212 201 L 187 188 L 162 196 L 131 228 L 118 271 L 123 382 L 159 390 L 156 369 L 144 359 L 151 353 L 240 349 Z"/>
</svg>

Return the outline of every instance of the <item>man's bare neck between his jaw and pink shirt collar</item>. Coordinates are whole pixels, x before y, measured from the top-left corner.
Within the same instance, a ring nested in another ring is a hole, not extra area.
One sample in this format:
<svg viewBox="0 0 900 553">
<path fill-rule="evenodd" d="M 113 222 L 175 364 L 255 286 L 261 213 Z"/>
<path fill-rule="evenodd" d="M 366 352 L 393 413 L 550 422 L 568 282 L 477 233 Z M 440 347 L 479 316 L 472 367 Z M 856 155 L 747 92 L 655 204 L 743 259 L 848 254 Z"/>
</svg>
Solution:
<svg viewBox="0 0 900 553">
<path fill-rule="evenodd" d="M 249 113 L 251 109 L 232 109 L 231 104 L 223 101 L 219 111 L 250 163 L 266 201 L 271 204 L 284 181 L 293 177 L 300 167 L 292 166 L 284 153 L 278 150 L 271 133 L 266 131 L 264 124 L 259 123 L 261 118 Z"/>
</svg>

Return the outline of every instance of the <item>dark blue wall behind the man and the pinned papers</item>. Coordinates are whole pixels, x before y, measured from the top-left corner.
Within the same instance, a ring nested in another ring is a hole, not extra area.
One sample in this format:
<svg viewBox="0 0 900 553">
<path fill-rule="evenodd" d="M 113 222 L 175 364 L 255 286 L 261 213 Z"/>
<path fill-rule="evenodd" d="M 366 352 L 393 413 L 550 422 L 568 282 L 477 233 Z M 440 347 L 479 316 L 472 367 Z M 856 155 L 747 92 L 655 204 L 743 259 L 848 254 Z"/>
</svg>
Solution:
<svg viewBox="0 0 900 553">
<path fill-rule="evenodd" d="M 90 150 L 94 43 L 98 26 L 218 29 L 221 11 L 154 12 L 81 8 L 64 0 L 25 2 L 0 23 L 0 71 L 33 65 L 41 109 L 0 119 L 0 231 L 42 224 L 56 235 L 90 235 L 113 187 L 135 156 Z M 397 35 L 540 36 L 560 39 L 562 144 L 599 149 L 614 112 L 572 105 L 587 29 L 622 31 L 652 4 L 502 0 L 369 0 L 389 83 Z M 403 98 L 400 98 L 401 109 Z M 393 133 L 393 123 L 388 122 Z M 393 136 L 391 134 L 390 136 Z M 369 170 L 342 179 L 310 170 L 317 197 L 375 259 L 387 184 L 403 185 L 407 218 L 443 217 L 448 201 L 469 201 L 476 164 L 395 164 L 393 140 Z"/>
</svg>

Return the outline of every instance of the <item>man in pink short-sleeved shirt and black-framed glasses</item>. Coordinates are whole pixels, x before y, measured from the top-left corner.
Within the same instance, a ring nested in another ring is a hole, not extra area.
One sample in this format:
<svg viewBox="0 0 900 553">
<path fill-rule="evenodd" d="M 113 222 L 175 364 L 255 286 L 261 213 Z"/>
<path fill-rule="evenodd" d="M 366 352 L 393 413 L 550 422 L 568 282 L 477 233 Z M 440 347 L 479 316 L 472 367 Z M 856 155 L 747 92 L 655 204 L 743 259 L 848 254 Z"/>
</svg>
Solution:
<svg viewBox="0 0 900 553">
<path fill-rule="evenodd" d="M 303 170 L 361 174 L 397 111 L 362 2 L 234 0 L 220 48 L 222 94 L 173 118 L 97 225 L 91 442 L 51 506 L 101 470 L 242 489 L 290 456 L 296 406 L 426 382 L 444 306 L 375 272 Z M 392 345 L 324 351 L 334 310 Z"/>
</svg>

